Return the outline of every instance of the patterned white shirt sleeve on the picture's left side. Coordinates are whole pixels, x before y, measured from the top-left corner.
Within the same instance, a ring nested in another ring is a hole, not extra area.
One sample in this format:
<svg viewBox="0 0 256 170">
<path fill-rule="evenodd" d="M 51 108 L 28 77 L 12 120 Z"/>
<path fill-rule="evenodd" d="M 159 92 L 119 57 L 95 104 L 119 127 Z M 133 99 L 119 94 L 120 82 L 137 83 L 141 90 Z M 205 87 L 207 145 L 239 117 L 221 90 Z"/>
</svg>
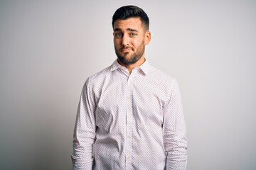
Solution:
<svg viewBox="0 0 256 170">
<path fill-rule="evenodd" d="M 87 79 L 82 88 L 75 120 L 73 154 L 71 155 L 74 170 L 92 169 L 92 144 L 95 142 L 95 129 L 95 100 L 89 86 L 89 79 Z"/>
</svg>

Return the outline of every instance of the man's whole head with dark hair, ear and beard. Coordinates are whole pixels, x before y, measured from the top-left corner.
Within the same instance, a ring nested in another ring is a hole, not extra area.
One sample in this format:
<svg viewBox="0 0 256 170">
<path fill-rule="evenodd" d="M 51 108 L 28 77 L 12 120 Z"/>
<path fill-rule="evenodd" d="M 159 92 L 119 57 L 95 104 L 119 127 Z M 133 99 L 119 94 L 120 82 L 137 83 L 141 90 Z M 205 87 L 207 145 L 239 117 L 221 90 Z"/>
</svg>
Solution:
<svg viewBox="0 0 256 170">
<path fill-rule="evenodd" d="M 151 40 L 149 18 L 137 6 L 122 6 L 112 18 L 114 50 L 124 65 L 142 64 L 145 45 Z"/>
</svg>

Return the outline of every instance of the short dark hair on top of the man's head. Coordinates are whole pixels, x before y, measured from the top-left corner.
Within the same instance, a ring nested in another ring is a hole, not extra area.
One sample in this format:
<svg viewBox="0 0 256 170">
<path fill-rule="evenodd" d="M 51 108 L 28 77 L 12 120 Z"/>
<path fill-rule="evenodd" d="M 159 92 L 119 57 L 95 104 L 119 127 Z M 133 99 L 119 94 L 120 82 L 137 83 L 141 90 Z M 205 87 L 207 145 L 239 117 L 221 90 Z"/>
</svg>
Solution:
<svg viewBox="0 0 256 170">
<path fill-rule="evenodd" d="M 139 17 L 144 24 L 146 30 L 149 30 L 149 17 L 143 11 L 142 8 L 138 6 L 122 6 L 114 12 L 112 18 L 112 27 L 114 28 L 114 21 L 117 19 L 125 20 L 127 18 Z"/>
</svg>

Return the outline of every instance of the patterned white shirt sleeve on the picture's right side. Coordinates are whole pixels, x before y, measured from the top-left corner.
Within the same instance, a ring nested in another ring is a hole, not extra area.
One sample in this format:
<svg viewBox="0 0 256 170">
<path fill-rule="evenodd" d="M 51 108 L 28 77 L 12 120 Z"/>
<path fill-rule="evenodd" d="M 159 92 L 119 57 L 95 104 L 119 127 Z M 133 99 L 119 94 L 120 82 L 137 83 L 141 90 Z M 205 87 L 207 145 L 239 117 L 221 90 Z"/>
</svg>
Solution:
<svg viewBox="0 0 256 170">
<path fill-rule="evenodd" d="M 187 164 L 186 125 L 178 82 L 174 79 L 171 94 L 164 105 L 163 125 L 166 169 L 184 170 Z"/>
</svg>

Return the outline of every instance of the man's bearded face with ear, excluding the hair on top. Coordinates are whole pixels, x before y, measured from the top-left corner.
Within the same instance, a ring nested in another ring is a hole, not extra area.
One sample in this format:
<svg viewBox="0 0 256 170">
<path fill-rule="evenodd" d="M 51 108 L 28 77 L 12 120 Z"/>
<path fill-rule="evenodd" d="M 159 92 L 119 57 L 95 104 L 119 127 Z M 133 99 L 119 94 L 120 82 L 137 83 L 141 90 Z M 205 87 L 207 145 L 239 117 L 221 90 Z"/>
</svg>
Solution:
<svg viewBox="0 0 256 170">
<path fill-rule="evenodd" d="M 150 32 L 145 30 L 139 17 L 114 21 L 114 50 L 120 62 L 134 64 L 144 58 Z"/>
</svg>

